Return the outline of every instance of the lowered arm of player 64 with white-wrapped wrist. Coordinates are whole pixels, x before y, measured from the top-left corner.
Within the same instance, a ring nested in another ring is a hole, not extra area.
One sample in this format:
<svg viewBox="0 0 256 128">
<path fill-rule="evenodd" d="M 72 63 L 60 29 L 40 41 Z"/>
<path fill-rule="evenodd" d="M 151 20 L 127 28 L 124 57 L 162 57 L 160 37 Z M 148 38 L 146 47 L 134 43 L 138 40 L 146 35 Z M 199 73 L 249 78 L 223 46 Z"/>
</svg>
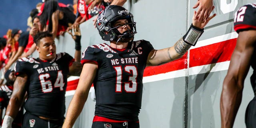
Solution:
<svg viewBox="0 0 256 128">
<path fill-rule="evenodd" d="M 26 93 L 26 82 L 28 76 L 26 74 L 20 74 L 17 76 L 14 82 L 14 88 L 12 96 L 10 98 L 8 107 L 6 108 L 6 114 L 4 116 L 2 128 L 11 128 L 12 121 L 17 116 L 20 106 L 23 102 L 24 95 Z"/>
</svg>

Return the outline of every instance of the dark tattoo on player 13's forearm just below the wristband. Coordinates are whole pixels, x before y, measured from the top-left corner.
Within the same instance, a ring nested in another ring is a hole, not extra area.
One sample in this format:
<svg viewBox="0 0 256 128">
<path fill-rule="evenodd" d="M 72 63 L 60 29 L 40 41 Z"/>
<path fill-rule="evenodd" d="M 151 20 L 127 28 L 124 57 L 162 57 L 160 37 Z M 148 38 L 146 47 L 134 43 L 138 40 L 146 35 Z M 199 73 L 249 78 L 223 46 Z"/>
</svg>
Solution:
<svg viewBox="0 0 256 128">
<path fill-rule="evenodd" d="M 191 45 L 189 45 L 189 44 L 187 44 L 187 43 L 185 43 L 184 41 L 183 41 L 183 39 L 182 38 L 180 38 L 180 40 L 178 40 L 178 42 L 176 42 L 176 44 L 175 44 L 175 46 L 174 46 L 174 49 L 176 50 L 176 52 L 178 53 L 178 54 L 185 54 L 187 51 L 188 51 L 188 49 L 191 47 Z"/>
</svg>

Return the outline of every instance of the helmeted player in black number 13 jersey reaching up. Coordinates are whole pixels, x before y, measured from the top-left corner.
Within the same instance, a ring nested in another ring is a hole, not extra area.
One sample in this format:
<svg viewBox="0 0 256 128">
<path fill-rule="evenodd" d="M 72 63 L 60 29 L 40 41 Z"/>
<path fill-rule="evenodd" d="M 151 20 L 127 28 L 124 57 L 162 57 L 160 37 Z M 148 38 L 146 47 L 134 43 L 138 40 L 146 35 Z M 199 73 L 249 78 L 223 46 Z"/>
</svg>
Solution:
<svg viewBox="0 0 256 128">
<path fill-rule="evenodd" d="M 110 41 L 110 45 L 92 45 L 82 53 L 83 70 L 62 128 L 73 126 L 92 83 L 96 94 L 92 128 L 139 128 L 142 77 L 146 66 L 182 57 L 196 44 L 204 26 L 215 15 L 204 22 L 194 17 L 188 32 L 174 46 L 155 50 L 146 40 L 133 41 L 136 23 L 128 10 L 116 5 L 106 7 L 98 16 L 97 29 L 103 40 Z"/>
</svg>

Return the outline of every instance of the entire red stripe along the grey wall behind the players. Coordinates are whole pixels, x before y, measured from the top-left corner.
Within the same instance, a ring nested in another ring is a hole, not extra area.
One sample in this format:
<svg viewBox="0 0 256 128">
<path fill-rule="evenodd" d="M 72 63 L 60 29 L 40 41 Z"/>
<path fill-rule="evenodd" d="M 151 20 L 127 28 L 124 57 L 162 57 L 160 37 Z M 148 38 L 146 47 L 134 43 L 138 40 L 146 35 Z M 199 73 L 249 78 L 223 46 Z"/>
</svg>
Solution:
<svg viewBox="0 0 256 128">
<path fill-rule="evenodd" d="M 189 67 L 230 61 L 235 46 L 236 38 L 191 49 Z M 152 76 L 187 68 L 187 56 L 188 53 L 178 60 L 160 66 L 146 67 L 143 76 Z M 78 81 L 79 80 L 68 81 L 67 91 L 76 90 Z"/>
</svg>

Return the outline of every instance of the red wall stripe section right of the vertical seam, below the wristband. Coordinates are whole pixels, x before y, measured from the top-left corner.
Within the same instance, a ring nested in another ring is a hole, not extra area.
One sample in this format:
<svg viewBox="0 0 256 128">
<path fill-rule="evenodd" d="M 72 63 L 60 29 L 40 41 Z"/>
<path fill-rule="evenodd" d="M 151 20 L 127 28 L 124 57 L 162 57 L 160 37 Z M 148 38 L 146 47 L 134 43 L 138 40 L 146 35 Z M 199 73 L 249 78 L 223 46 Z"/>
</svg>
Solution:
<svg viewBox="0 0 256 128">
<path fill-rule="evenodd" d="M 230 61 L 236 38 L 190 50 L 189 67 Z"/>
</svg>

